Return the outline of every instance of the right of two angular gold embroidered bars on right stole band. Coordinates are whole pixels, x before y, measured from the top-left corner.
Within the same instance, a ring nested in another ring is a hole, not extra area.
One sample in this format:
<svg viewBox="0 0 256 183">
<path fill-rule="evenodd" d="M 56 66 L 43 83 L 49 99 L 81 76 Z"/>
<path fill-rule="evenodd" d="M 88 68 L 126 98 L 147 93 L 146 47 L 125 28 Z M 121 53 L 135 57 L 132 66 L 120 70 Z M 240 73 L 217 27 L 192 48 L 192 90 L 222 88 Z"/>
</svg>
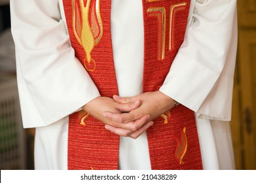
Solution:
<svg viewBox="0 0 256 183">
<path fill-rule="evenodd" d="M 170 33 L 169 33 L 169 50 L 172 50 L 172 48 L 174 47 L 174 35 L 173 35 L 173 30 L 174 30 L 174 16 L 175 13 L 178 10 L 184 10 L 187 6 L 187 3 L 177 3 L 175 5 L 172 5 L 170 7 Z"/>
</svg>

